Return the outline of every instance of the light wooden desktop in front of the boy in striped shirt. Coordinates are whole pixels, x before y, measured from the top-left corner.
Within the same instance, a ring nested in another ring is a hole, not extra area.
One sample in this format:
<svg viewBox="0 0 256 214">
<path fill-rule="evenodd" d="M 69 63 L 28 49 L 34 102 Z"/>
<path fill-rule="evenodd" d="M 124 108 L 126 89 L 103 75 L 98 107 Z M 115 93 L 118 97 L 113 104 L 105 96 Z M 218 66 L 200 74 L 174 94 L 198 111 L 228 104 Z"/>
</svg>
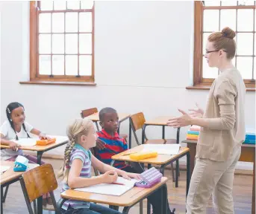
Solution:
<svg viewBox="0 0 256 214">
<path fill-rule="evenodd" d="M 184 153 L 190 151 L 190 149 L 188 149 L 187 147 L 181 147 L 178 155 L 157 155 L 156 158 L 147 158 L 144 160 L 132 160 L 129 157 L 129 155 L 125 155 L 130 152 L 140 152 L 141 150 L 143 150 L 143 147 L 144 147 L 144 145 L 140 145 L 140 146 L 136 146 L 132 149 L 128 149 L 125 152 L 121 152 L 117 155 L 113 155 L 112 159 L 113 160 L 125 160 L 125 161 L 129 161 L 129 162 L 137 162 L 137 163 L 151 163 L 151 164 L 162 165 L 162 164 L 168 163 L 172 159 L 177 158 L 177 156 L 183 155 Z"/>
</svg>

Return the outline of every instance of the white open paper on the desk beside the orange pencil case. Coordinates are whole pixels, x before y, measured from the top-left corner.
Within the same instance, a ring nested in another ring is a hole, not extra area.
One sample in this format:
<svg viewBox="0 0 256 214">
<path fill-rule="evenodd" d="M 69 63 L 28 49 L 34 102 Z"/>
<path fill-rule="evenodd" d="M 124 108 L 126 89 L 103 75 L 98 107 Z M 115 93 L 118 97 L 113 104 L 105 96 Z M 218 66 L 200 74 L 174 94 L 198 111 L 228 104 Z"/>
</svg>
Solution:
<svg viewBox="0 0 256 214">
<path fill-rule="evenodd" d="M 141 152 L 157 152 L 160 155 L 178 155 L 180 144 L 146 144 Z"/>
</svg>

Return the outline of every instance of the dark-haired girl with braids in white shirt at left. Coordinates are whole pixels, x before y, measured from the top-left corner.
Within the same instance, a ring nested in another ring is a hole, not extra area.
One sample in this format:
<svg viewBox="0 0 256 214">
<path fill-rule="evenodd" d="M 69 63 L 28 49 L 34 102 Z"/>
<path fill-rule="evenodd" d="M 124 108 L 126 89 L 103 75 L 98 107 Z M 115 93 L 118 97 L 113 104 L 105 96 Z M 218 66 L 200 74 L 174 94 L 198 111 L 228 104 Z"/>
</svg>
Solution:
<svg viewBox="0 0 256 214">
<path fill-rule="evenodd" d="M 25 121 L 25 108 L 21 103 L 10 103 L 6 108 L 7 120 L 0 127 L 1 145 L 10 146 L 10 149 L 1 149 L 1 160 L 15 161 L 18 155 L 28 158 L 29 163 L 37 163 L 37 158 L 31 155 L 24 155 L 19 143 L 13 140 L 19 138 L 29 138 L 30 133 L 36 134 L 40 138 L 46 137 L 46 134 L 34 129 Z M 18 141 L 19 142 L 19 141 Z M 41 161 L 44 164 L 43 161 Z M 50 195 L 43 195 L 43 205 L 52 204 Z"/>
</svg>

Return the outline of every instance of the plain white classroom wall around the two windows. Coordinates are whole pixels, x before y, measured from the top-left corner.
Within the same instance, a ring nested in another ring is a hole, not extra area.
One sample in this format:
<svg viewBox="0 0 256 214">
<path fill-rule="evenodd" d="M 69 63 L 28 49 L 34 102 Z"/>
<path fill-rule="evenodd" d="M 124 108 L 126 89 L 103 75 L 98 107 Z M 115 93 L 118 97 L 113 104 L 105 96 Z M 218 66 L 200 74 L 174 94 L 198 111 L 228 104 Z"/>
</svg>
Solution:
<svg viewBox="0 0 256 214">
<path fill-rule="evenodd" d="M 1 123 L 13 101 L 24 104 L 29 123 L 49 134 L 65 134 L 85 108 L 143 111 L 151 119 L 178 115 L 177 108 L 195 102 L 205 107 L 208 91 L 185 88 L 193 72 L 193 1 L 96 1 L 96 86 L 20 85 L 29 80 L 29 3 L 4 1 L 0 7 Z M 246 126 L 255 129 L 254 92 L 246 94 Z M 147 129 L 147 135 L 160 137 L 160 130 Z M 128 133 L 127 121 L 121 132 Z M 175 130 L 166 128 L 166 136 Z"/>
</svg>

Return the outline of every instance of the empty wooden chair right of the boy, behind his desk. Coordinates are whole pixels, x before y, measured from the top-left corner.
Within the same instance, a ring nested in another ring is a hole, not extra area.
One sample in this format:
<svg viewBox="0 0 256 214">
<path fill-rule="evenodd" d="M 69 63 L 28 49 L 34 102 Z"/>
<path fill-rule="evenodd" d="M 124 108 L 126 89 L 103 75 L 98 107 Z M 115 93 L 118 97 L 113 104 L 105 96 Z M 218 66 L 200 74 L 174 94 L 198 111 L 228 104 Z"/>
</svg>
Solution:
<svg viewBox="0 0 256 214">
<path fill-rule="evenodd" d="M 146 137 L 146 133 L 145 133 L 145 125 L 144 123 L 146 122 L 145 117 L 143 112 L 139 112 L 137 114 L 133 114 L 130 117 L 130 123 L 131 123 L 131 129 L 134 132 L 134 137 L 136 140 L 136 143 L 138 145 L 140 145 L 140 141 L 138 140 L 137 137 L 137 130 L 142 129 L 142 143 L 143 144 L 174 144 L 177 143 L 176 139 L 153 139 L 153 140 L 149 140 Z M 178 166 L 178 165 L 177 165 Z M 174 169 L 173 169 L 173 163 L 171 163 L 171 167 L 172 167 L 172 181 L 175 182 L 175 175 L 174 175 Z"/>
</svg>

